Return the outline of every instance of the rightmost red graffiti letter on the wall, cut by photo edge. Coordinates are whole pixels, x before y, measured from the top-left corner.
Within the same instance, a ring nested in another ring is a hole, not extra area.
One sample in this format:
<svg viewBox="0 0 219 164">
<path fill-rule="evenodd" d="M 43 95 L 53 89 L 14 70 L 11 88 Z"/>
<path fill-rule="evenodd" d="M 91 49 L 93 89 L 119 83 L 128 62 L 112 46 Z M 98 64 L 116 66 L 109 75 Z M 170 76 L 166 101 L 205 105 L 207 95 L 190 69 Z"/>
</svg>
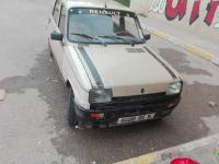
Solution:
<svg viewBox="0 0 219 164">
<path fill-rule="evenodd" d="M 205 19 L 205 22 L 207 25 L 211 25 L 218 5 L 219 5 L 219 0 L 210 0 L 210 2 L 208 3 L 208 7 L 207 7 L 208 13 Z"/>
</svg>

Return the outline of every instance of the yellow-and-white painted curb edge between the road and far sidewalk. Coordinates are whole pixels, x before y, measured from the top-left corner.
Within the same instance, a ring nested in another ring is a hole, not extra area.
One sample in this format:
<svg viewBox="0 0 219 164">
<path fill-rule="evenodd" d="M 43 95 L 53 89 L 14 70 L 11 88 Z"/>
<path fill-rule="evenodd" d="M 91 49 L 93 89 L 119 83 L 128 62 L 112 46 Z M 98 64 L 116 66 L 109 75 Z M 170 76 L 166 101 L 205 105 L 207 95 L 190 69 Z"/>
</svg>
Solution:
<svg viewBox="0 0 219 164">
<path fill-rule="evenodd" d="M 199 48 L 199 47 L 197 47 L 197 46 L 195 46 L 193 44 L 188 44 L 188 43 L 185 43 L 183 40 L 180 40 L 176 37 L 173 37 L 173 36 L 169 35 L 166 33 L 163 33 L 163 32 L 161 32 L 159 30 L 149 27 L 149 26 L 147 26 L 145 24 L 143 24 L 143 27 L 147 27 L 147 30 L 151 34 L 160 37 L 161 39 L 164 39 L 164 40 L 168 40 L 168 42 L 170 42 L 170 43 L 172 43 L 174 45 L 181 46 L 184 49 L 186 49 L 187 51 L 189 51 L 189 52 L 192 52 L 192 54 L 194 54 L 194 55 L 196 55 L 198 57 L 201 57 L 201 58 L 204 58 L 204 59 L 206 59 L 206 60 L 219 66 L 219 57 L 218 56 L 212 55 L 212 54 L 210 54 L 210 52 L 208 52 L 208 51 L 206 51 L 206 50 L 204 50 L 204 49 L 201 49 L 201 48 Z"/>
</svg>

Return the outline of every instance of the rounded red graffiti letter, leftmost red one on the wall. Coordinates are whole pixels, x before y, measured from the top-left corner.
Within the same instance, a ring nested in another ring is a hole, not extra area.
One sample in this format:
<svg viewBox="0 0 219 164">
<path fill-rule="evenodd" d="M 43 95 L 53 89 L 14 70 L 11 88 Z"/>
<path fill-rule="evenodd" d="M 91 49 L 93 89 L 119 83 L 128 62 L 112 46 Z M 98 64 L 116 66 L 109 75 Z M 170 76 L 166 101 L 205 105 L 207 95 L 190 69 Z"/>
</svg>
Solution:
<svg viewBox="0 0 219 164">
<path fill-rule="evenodd" d="M 166 0 L 165 16 L 168 20 L 174 20 L 178 15 L 182 20 L 186 14 L 187 0 L 178 0 L 175 8 L 173 8 L 173 0 Z"/>
</svg>

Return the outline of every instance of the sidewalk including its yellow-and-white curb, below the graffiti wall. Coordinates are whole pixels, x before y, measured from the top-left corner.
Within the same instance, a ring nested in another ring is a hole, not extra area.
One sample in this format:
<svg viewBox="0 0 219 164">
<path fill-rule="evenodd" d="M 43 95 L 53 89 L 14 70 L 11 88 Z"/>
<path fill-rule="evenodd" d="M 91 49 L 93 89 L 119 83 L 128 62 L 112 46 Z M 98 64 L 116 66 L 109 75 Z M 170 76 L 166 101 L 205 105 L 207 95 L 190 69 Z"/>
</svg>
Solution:
<svg viewBox="0 0 219 164">
<path fill-rule="evenodd" d="M 111 1 L 110 5 L 128 9 L 127 7 L 124 7 L 115 1 Z M 178 30 L 154 19 L 142 17 L 139 15 L 139 20 L 142 27 L 147 28 L 152 35 L 181 46 L 194 55 L 205 58 L 206 60 L 219 66 L 219 43 L 216 40 L 203 38 L 191 32 Z"/>
</svg>

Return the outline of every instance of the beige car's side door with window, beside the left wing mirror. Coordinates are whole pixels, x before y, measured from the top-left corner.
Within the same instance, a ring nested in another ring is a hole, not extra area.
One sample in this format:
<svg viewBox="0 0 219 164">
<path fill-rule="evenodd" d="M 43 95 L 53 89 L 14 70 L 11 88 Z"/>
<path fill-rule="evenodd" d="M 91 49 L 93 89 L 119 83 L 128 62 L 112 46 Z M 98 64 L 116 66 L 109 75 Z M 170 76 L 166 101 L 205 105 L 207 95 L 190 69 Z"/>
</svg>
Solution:
<svg viewBox="0 0 219 164">
<path fill-rule="evenodd" d="M 60 32 L 64 34 L 64 40 L 66 36 L 66 10 L 59 0 L 56 1 L 54 8 L 53 19 L 50 20 L 49 32 L 54 31 Z M 62 60 L 64 60 L 64 40 L 53 40 L 49 38 L 50 48 L 56 59 L 56 62 L 59 67 L 60 72 L 62 73 Z"/>
</svg>

